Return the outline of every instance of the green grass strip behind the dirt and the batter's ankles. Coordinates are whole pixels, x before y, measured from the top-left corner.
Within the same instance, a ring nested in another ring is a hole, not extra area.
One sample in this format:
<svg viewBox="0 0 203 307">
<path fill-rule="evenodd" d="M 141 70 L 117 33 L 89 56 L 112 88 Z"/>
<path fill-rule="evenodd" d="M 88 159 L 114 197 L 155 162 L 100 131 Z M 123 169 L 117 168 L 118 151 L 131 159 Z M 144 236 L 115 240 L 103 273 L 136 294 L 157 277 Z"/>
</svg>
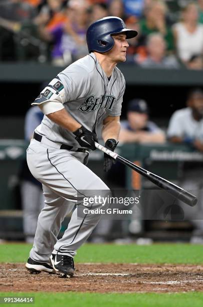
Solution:
<svg viewBox="0 0 203 307">
<path fill-rule="evenodd" d="M 1 244 L 0 262 L 25 262 L 31 247 L 30 244 Z M 203 264 L 203 246 L 174 243 L 145 246 L 85 244 L 78 250 L 75 261 Z"/>
</svg>

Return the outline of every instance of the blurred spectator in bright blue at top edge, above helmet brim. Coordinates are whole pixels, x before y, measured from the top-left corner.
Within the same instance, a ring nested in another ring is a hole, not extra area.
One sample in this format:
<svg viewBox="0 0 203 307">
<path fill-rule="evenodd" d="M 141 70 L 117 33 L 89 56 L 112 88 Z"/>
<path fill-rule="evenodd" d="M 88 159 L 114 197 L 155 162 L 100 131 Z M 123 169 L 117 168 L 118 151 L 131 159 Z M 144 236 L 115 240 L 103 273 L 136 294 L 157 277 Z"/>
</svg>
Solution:
<svg viewBox="0 0 203 307">
<path fill-rule="evenodd" d="M 144 0 L 123 0 L 124 12 L 127 16 L 142 17 Z"/>
</svg>

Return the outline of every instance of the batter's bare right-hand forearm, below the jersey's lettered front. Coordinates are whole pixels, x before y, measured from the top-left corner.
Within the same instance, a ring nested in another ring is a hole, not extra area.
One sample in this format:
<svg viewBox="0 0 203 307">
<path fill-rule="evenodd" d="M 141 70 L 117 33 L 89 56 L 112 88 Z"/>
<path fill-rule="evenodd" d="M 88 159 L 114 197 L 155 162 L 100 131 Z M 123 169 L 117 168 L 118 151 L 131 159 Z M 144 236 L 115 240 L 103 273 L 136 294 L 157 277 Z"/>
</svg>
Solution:
<svg viewBox="0 0 203 307">
<path fill-rule="evenodd" d="M 103 124 L 102 138 L 104 142 L 106 142 L 106 140 L 109 138 L 114 138 L 115 140 L 118 140 L 119 132 L 120 132 L 120 121 L 119 120 L 108 121 Z"/>
</svg>

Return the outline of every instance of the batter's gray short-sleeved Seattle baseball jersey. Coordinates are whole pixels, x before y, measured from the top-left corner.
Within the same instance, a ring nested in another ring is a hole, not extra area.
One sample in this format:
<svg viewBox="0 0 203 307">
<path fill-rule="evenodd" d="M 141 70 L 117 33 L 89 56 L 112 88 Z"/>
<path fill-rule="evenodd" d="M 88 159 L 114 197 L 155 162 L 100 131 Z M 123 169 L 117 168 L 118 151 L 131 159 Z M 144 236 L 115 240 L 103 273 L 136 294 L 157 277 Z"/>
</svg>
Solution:
<svg viewBox="0 0 203 307">
<path fill-rule="evenodd" d="M 105 117 L 119 116 L 125 79 L 115 67 L 108 80 L 96 56 L 91 53 L 68 66 L 40 93 L 32 105 L 48 101 L 63 103 L 65 109 L 85 128 L 98 133 Z M 81 147 L 75 135 L 47 116 L 36 132 L 52 141 Z"/>
</svg>

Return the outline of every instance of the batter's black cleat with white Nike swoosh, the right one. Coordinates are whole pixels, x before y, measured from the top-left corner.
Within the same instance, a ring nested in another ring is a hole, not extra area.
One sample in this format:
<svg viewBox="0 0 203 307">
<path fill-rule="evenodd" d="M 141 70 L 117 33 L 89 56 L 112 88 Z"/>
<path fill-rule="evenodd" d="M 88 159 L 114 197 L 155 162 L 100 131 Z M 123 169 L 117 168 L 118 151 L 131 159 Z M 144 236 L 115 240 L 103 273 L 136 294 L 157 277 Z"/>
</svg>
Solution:
<svg viewBox="0 0 203 307">
<path fill-rule="evenodd" d="M 67 255 L 51 254 L 50 260 L 55 272 L 61 277 L 70 278 L 74 275 L 75 267 L 72 257 Z"/>
</svg>

